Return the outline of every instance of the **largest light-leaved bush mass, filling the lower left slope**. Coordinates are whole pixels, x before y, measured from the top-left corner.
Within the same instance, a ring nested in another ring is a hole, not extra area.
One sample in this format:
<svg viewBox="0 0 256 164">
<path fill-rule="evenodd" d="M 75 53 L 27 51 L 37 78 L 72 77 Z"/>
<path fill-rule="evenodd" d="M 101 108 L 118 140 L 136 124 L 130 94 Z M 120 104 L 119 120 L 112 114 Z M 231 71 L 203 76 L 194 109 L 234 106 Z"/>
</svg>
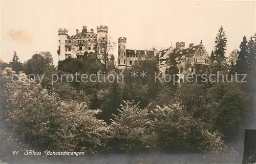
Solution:
<svg viewBox="0 0 256 164">
<path fill-rule="evenodd" d="M 89 110 L 86 103 L 63 100 L 57 94 L 31 83 L 25 74 L 22 81 L 11 81 L 11 69 L 1 71 L 10 103 L 8 121 L 27 141 L 43 150 L 104 150 L 109 128 L 95 118 L 99 110 Z"/>
</svg>

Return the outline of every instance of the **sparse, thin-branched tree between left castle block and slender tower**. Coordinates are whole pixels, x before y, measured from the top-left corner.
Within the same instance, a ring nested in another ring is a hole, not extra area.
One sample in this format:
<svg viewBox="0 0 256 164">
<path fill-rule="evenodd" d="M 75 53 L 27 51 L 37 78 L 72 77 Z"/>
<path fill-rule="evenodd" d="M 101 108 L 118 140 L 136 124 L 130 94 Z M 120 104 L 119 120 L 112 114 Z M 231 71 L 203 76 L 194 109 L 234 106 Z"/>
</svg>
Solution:
<svg viewBox="0 0 256 164">
<path fill-rule="evenodd" d="M 110 37 L 104 37 L 104 38 L 99 38 L 96 46 L 95 46 L 95 53 L 96 53 L 96 58 L 99 63 L 104 67 L 103 71 L 106 71 L 106 69 L 110 66 L 111 64 L 111 58 L 112 54 L 110 53 L 116 43 L 111 40 Z"/>
</svg>

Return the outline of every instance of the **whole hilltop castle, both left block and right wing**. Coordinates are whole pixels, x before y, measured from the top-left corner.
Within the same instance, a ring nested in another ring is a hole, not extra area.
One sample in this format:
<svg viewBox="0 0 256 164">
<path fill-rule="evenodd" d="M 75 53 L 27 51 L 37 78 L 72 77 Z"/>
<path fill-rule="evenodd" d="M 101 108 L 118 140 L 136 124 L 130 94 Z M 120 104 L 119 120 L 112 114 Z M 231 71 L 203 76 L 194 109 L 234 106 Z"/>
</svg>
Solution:
<svg viewBox="0 0 256 164">
<path fill-rule="evenodd" d="M 65 60 L 67 58 L 83 58 L 85 52 L 95 52 L 95 47 L 100 39 L 108 37 L 108 26 L 97 26 L 97 33 L 93 29 L 87 30 L 87 26 L 83 26 L 82 31 L 73 36 L 68 35 L 67 29 L 59 29 L 59 46 L 58 46 L 58 60 Z M 167 69 L 168 59 L 170 55 L 175 55 L 177 67 L 180 74 L 185 72 L 195 72 L 196 65 L 209 65 L 209 56 L 202 43 L 194 45 L 190 43 L 185 48 L 185 42 L 176 42 L 176 47 L 156 51 L 156 50 L 136 50 L 126 49 L 127 38 L 118 38 L 118 68 L 124 69 L 132 67 L 133 65 L 141 65 L 147 57 L 155 57 L 158 60 L 159 71 L 164 74 Z"/>
</svg>

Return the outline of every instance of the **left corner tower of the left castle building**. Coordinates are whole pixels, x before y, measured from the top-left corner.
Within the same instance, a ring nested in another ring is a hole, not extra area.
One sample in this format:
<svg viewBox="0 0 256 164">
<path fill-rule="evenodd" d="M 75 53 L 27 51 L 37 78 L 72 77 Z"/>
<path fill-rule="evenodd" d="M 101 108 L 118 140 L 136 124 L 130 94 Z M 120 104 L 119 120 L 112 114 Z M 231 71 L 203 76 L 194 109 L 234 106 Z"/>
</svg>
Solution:
<svg viewBox="0 0 256 164">
<path fill-rule="evenodd" d="M 66 40 L 68 39 L 68 30 L 67 29 L 58 29 L 58 36 L 59 36 L 59 46 L 58 46 L 58 60 L 62 61 L 66 59 Z"/>
</svg>

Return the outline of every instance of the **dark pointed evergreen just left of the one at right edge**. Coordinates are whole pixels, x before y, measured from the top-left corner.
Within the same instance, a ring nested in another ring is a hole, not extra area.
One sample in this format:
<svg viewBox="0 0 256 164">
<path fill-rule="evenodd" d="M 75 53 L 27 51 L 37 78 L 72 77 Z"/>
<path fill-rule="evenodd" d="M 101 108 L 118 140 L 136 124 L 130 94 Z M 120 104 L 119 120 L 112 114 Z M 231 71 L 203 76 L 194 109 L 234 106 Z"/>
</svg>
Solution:
<svg viewBox="0 0 256 164">
<path fill-rule="evenodd" d="M 247 57 L 248 57 L 248 42 L 246 36 L 243 37 L 243 41 L 241 42 L 240 51 L 238 55 L 238 60 L 236 64 L 236 72 L 238 74 L 245 74 L 248 71 Z"/>
</svg>

